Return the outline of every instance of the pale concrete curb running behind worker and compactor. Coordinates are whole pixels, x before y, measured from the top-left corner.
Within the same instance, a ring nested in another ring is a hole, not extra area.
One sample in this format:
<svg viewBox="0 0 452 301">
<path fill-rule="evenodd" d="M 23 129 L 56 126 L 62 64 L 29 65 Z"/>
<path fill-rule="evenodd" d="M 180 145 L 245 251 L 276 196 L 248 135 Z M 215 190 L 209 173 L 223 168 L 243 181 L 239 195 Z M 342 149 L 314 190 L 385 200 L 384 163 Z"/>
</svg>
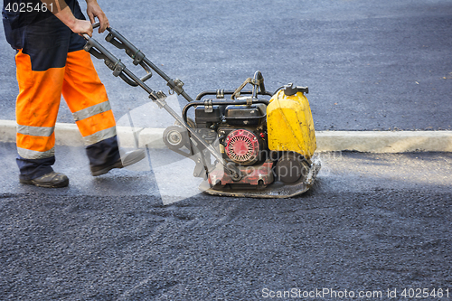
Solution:
<svg viewBox="0 0 452 301">
<path fill-rule="evenodd" d="M 165 128 L 137 128 L 139 146 L 165 148 L 162 136 Z M 0 120 L 0 142 L 15 142 L 16 123 Z M 316 131 L 317 151 L 358 151 L 370 153 L 452 152 L 452 131 Z M 121 146 L 135 146 L 130 127 L 118 127 Z M 57 123 L 56 144 L 83 146 L 75 124 Z"/>
</svg>

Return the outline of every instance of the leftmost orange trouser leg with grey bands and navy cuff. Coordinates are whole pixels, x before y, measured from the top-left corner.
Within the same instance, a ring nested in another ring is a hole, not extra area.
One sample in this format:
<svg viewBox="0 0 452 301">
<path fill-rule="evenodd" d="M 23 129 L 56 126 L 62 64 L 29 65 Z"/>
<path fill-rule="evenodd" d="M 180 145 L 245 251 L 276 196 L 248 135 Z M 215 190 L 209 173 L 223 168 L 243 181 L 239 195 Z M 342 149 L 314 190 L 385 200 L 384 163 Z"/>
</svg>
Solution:
<svg viewBox="0 0 452 301">
<path fill-rule="evenodd" d="M 33 71 L 22 50 L 15 56 L 19 95 L 16 101 L 17 165 L 21 180 L 52 172 L 55 162 L 55 127 L 64 68 Z"/>
</svg>

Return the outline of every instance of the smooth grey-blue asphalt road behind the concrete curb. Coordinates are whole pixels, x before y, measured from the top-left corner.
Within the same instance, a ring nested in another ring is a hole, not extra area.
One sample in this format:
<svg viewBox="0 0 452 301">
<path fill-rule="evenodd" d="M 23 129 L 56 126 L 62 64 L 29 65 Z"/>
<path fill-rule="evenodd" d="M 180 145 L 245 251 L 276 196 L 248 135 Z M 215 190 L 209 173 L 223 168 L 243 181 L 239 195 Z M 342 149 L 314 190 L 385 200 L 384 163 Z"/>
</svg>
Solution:
<svg viewBox="0 0 452 301">
<path fill-rule="evenodd" d="M 288 82 L 309 87 L 318 130 L 452 127 L 449 0 L 99 4 L 112 27 L 169 76 L 184 80 L 192 98 L 202 90 L 236 89 L 259 70 L 268 90 Z M 110 50 L 132 66 L 125 53 Z M 3 33 L 0 61 L 0 119 L 13 120 L 14 50 Z M 96 67 L 117 117 L 148 101 L 102 61 Z M 167 92 L 156 76 L 149 85 Z M 59 121 L 73 122 L 62 107 Z"/>
</svg>

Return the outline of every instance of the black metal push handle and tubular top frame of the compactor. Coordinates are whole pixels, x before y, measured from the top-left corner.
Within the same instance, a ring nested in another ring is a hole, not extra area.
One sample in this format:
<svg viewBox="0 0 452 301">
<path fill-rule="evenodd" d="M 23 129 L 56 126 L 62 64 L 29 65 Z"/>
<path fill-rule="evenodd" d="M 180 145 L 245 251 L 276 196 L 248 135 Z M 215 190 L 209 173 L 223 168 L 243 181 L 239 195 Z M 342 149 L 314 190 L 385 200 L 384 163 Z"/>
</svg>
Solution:
<svg viewBox="0 0 452 301">
<path fill-rule="evenodd" d="M 92 25 L 93 29 L 99 27 L 99 22 Z M 116 77 L 119 77 L 120 79 L 124 80 L 128 85 L 132 87 L 141 87 L 142 89 L 146 90 L 146 92 L 149 94 L 149 99 L 152 99 L 155 101 L 155 103 L 158 105 L 159 108 L 164 108 L 177 122 L 182 125 L 189 134 L 190 142 L 191 142 L 191 149 L 190 154 L 186 154 L 184 152 L 177 152 L 181 155 L 191 157 L 193 158 L 193 155 L 196 155 L 195 148 L 199 151 L 199 156 L 196 159 L 193 159 L 196 162 L 196 168 L 195 173 L 196 176 L 202 175 L 202 173 L 199 172 L 198 165 L 203 165 L 203 169 L 205 171 L 205 176 L 208 176 L 209 172 L 209 165 L 205 161 L 205 157 L 202 155 L 203 151 L 206 150 L 209 152 L 218 163 L 220 163 L 225 171 L 229 172 L 230 174 L 236 174 L 237 171 L 235 169 L 229 168 L 226 163 L 224 162 L 222 155 L 220 152 L 215 150 L 209 143 L 204 141 L 201 136 L 199 136 L 195 129 L 193 127 L 190 127 L 187 123 L 186 118 L 186 111 L 188 108 L 191 108 L 193 106 L 197 105 L 204 105 L 205 103 L 202 101 L 193 101 L 193 99 L 184 91 L 184 82 L 182 80 L 178 79 L 171 79 L 168 77 L 164 71 L 161 71 L 158 67 L 155 66 L 155 64 L 152 61 L 149 61 L 146 58 L 145 53 L 141 52 L 134 44 L 129 42 L 122 34 L 118 33 L 115 29 L 108 27 L 108 34 L 105 38 L 105 40 L 109 43 L 111 43 L 113 46 L 115 46 L 118 49 L 125 50 L 127 55 L 133 60 L 134 65 L 140 65 L 145 71 L 146 75 L 142 78 L 138 78 L 137 75 L 135 75 L 132 71 L 128 70 L 126 67 L 126 64 L 122 62 L 120 59 L 118 59 L 116 56 L 114 56 L 111 52 L 109 52 L 101 43 L 99 43 L 94 38 L 90 37 L 88 34 L 84 33 L 83 37 L 87 41 L 87 43 L 84 46 L 84 50 L 91 53 L 95 58 L 99 60 L 104 60 L 107 67 L 113 71 L 113 75 Z M 166 103 L 166 95 L 163 91 L 158 90 L 155 91 L 151 89 L 145 82 L 146 80 L 149 80 L 153 76 L 153 72 L 155 71 L 156 74 L 158 74 L 162 79 L 164 79 L 167 82 L 167 86 L 173 90 L 177 95 L 181 95 L 186 99 L 189 104 L 185 106 L 184 108 L 184 117 L 180 117 L 173 108 L 169 107 Z M 245 91 L 242 92 L 241 89 L 243 89 L 246 84 L 252 84 L 253 90 L 252 91 Z M 258 90 L 259 88 L 259 90 Z M 211 92 L 203 92 L 202 95 L 209 95 Z M 215 92 L 216 93 L 216 92 Z M 234 105 L 251 105 L 254 103 L 268 103 L 267 100 L 259 100 L 257 99 L 257 95 L 273 95 L 272 93 L 269 93 L 265 90 L 264 86 L 264 79 L 262 77 L 262 74 L 260 71 L 256 71 L 254 75 L 254 79 L 249 78 L 246 80 L 239 89 L 236 89 L 233 92 L 226 91 L 225 94 L 231 94 L 231 100 L 220 100 L 217 99 L 215 101 L 211 102 L 212 104 L 234 104 Z M 251 94 L 252 97 L 249 100 L 234 100 L 237 96 L 242 94 Z M 201 97 L 202 98 L 202 97 Z M 267 101 L 267 102 L 266 102 Z M 196 172 L 198 170 L 198 172 Z"/>
</svg>

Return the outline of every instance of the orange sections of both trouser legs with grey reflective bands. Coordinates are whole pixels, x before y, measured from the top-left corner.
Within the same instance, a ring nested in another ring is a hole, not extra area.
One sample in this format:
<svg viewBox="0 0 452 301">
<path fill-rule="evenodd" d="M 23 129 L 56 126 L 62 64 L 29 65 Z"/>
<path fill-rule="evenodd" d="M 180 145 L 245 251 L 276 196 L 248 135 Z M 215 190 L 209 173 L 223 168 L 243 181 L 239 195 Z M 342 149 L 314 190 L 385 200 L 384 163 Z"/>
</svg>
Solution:
<svg viewBox="0 0 452 301">
<path fill-rule="evenodd" d="M 55 127 L 61 93 L 86 145 L 116 135 L 107 92 L 89 53 L 68 53 L 66 66 L 33 71 L 30 56 L 16 54 L 20 92 L 16 102 L 17 150 L 25 159 L 54 155 Z"/>
</svg>

